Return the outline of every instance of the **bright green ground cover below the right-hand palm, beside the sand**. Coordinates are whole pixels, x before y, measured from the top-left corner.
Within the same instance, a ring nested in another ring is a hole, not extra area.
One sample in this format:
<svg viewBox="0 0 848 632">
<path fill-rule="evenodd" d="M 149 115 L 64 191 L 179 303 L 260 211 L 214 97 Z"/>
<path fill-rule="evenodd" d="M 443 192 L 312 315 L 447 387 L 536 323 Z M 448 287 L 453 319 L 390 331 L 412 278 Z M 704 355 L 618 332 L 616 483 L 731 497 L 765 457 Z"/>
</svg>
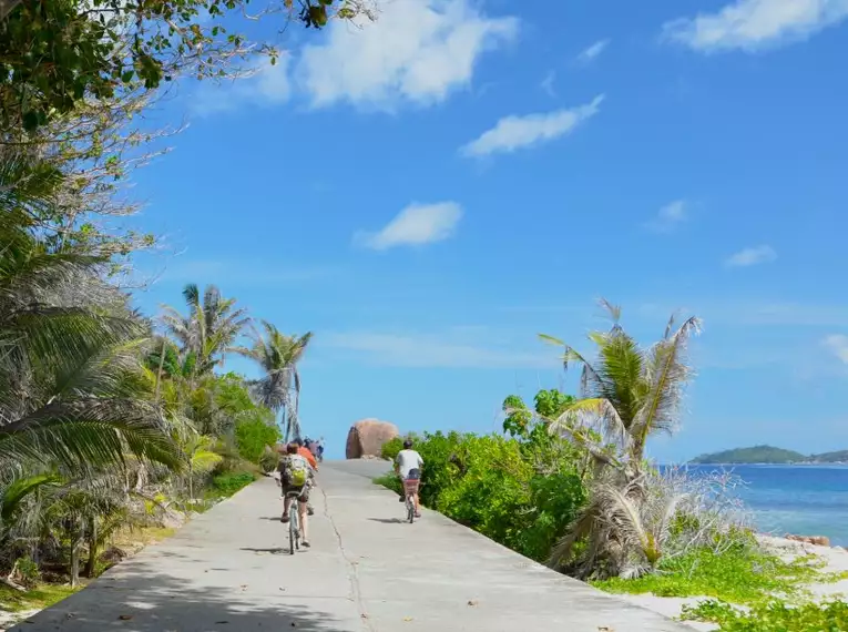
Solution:
<svg viewBox="0 0 848 632">
<path fill-rule="evenodd" d="M 785 562 L 743 542 L 722 554 L 698 550 L 661 562 L 656 574 L 592 583 L 614 593 L 712 597 L 730 603 L 763 604 L 776 595 L 801 598 L 806 593 L 803 588 L 806 583 L 841 579 L 835 573 L 823 574 L 823 565 L 824 562 L 814 557 Z"/>
</svg>

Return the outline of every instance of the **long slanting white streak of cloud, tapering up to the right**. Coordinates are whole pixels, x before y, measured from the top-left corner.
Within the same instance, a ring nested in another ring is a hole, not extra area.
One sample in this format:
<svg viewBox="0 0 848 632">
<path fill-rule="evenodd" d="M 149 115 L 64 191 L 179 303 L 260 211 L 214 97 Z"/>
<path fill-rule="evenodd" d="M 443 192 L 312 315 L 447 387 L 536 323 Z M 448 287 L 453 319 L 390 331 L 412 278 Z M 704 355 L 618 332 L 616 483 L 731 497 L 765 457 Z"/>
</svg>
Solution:
<svg viewBox="0 0 848 632">
<path fill-rule="evenodd" d="M 571 110 L 556 110 L 525 116 L 505 116 L 498 121 L 494 128 L 462 146 L 460 153 L 473 157 L 493 153 L 510 153 L 559 139 L 597 114 L 603 100 L 604 96 L 601 94 L 595 96 L 591 103 Z"/>
</svg>

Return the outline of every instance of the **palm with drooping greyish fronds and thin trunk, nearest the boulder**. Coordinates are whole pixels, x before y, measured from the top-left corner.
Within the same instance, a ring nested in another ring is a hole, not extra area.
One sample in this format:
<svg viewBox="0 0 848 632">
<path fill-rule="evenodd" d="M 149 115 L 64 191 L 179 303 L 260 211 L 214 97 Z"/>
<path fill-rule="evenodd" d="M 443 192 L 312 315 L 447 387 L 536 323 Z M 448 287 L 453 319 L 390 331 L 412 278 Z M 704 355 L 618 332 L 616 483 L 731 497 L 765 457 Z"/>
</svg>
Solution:
<svg viewBox="0 0 848 632">
<path fill-rule="evenodd" d="M 297 363 L 306 351 L 313 334 L 307 332 L 303 336 L 286 336 L 267 320 L 263 320 L 262 325 L 264 335 L 254 330 L 253 346 L 237 351 L 256 360 L 265 371 L 265 377 L 254 383 L 254 393 L 262 406 L 275 415 L 280 414 L 280 430 L 288 441 L 292 437 L 300 437 L 300 374 Z"/>
</svg>

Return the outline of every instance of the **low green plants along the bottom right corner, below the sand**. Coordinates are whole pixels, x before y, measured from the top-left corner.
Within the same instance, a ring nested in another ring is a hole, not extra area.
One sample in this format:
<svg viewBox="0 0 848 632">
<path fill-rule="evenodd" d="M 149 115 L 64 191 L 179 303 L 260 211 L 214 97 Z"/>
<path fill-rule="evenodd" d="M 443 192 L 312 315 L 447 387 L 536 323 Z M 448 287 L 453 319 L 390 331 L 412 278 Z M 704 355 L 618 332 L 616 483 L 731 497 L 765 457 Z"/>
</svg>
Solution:
<svg viewBox="0 0 848 632">
<path fill-rule="evenodd" d="M 848 630 L 848 603 L 807 603 L 788 606 L 779 601 L 740 612 L 727 603 L 707 600 L 684 608 L 682 619 L 717 623 L 722 632 L 839 632 Z"/>
</svg>

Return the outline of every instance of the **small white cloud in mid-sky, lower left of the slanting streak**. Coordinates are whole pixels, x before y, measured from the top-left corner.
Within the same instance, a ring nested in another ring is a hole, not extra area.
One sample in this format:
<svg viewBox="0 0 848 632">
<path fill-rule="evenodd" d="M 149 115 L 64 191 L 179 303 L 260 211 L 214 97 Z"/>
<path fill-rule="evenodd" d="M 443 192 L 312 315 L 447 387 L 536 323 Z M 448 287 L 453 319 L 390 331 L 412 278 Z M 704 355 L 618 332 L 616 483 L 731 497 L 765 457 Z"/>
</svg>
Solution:
<svg viewBox="0 0 848 632">
<path fill-rule="evenodd" d="M 410 204 L 377 233 L 357 233 L 354 242 L 375 251 L 445 241 L 456 233 L 462 207 L 456 202 Z"/>
</svg>

